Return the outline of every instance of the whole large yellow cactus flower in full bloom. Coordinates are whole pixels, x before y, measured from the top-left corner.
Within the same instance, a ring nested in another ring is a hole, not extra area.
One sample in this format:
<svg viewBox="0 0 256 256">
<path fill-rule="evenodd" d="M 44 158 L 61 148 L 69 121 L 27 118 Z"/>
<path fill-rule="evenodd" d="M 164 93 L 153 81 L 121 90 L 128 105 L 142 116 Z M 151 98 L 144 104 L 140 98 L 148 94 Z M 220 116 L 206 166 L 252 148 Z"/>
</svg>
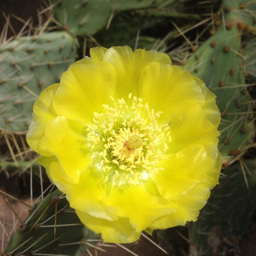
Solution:
<svg viewBox="0 0 256 256">
<path fill-rule="evenodd" d="M 27 140 L 81 222 L 133 242 L 196 220 L 218 183 L 220 113 L 168 55 L 95 47 L 34 104 Z"/>
</svg>

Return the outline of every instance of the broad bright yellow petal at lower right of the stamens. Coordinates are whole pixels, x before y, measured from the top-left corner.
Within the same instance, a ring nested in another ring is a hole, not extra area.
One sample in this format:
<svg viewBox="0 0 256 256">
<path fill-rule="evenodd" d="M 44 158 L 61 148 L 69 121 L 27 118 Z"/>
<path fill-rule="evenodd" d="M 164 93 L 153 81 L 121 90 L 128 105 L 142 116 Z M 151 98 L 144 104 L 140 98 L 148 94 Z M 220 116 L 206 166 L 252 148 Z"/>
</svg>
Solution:
<svg viewBox="0 0 256 256">
<path fill-rule="evenodd" d="M 196 184 L 212 188 L 218 183 L 222 163 L 219 156 L 216 145 L 190 145 L 161 161 L 158 166 L 162 170 L 152 180 L 164 198 L 176 201 Z"/>
</svg>

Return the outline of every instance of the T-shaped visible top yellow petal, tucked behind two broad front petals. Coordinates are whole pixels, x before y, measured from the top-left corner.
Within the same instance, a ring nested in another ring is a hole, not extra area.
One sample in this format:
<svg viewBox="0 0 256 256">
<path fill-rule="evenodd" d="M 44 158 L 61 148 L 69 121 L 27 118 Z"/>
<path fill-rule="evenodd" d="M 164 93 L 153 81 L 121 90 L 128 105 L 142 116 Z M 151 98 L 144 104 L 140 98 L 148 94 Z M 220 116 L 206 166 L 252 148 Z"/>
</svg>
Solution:
<svg viewBox="0 0 256 256">
<path fill-rule="evenodd" d="M 111 63 L 116 69 L 116 98 L 125 100 L 130 93 L 138 95 L 138 79 L 144 66 L 151 62 L 172 63 L 167 54 L 142 49 L 133 52 L 128 46 L 111 47 L 105 52 L 103 62 Z"/>
</svg>

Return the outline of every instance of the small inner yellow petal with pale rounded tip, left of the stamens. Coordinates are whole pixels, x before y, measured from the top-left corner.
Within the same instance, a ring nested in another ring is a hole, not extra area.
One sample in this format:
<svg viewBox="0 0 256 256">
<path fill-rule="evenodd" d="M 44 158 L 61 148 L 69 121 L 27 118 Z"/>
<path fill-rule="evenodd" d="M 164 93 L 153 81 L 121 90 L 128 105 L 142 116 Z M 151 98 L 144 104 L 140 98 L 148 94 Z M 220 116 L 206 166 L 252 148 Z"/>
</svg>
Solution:
<svg viewBox="0 0 256 256">
<path fill-rule="evenodd" d="M 63 175 L 67 175 L 71 183 L 79 182 L 81 172 L 91 161 L 89 148 L 78 131 L 79 129 L 72 129 L 65 117 L 57 116 L 47 124 L 40 142 L 42 150 L 48 149 L 48 152 L 58 159 L 60 168 L 65 173 Z M 44 165 L 44 162 L 42 164 Z M 54 168 L 50 168 L 51 171 L 55 172 Z"/>
</svg>

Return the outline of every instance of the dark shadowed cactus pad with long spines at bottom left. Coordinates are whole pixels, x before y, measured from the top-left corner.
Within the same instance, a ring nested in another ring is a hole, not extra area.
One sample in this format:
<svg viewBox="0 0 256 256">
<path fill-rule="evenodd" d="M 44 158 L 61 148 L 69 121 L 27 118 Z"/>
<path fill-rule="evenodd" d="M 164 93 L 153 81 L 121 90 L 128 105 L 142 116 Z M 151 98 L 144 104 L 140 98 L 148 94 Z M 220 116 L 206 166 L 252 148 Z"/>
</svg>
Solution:
<svg viewBox="0 0 256 256">
<path fill-rule="evenodd" d="M 34 206 L 4 255 L 80 255 L 98 239 L 98 234 L 82 225 L 65 196 L 55 190 Z"/>
</svg>

